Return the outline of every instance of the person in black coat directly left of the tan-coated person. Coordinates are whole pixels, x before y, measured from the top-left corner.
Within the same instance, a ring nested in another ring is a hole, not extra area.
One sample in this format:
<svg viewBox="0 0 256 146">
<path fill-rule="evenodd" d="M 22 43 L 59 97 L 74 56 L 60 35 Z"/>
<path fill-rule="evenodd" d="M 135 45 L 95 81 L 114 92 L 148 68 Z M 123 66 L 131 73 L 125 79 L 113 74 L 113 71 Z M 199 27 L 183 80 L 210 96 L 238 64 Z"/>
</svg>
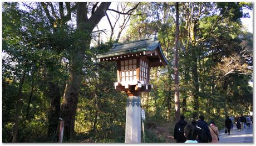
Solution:
<svg viewBox="0 0 256 146">
<path fill-rule="evenodd" d="M 211 142 L 211 133 L 210 129 L 208 127 L 208 123 L 204 121 L 204 116 L 199 116 L 199 120 L 196 123 L 198 127 L 200 127 L 204 133 L 205 139 L 202 140 L 202 143 L 208 143 Z"/>
</svg>

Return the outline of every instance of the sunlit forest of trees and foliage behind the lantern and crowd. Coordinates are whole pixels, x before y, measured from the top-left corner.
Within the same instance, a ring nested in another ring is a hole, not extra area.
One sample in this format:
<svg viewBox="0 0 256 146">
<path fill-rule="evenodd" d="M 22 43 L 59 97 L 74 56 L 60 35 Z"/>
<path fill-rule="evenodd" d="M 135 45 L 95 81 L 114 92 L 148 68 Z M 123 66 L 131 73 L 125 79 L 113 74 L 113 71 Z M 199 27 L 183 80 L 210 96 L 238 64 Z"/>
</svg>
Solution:
<svg viewBox="0 0 256 146">
<path fill-rule="evenodd" d="M 145 142 L 174 142 L 177 112 L 223 128 L 225 115 L 253 111 L 249 11 L 253 3 L 2 3 L 2 142 L 58 142 L 63 119 L 63 142 L 124 143 L 127 95 L 115 90 L 116 62 L 96 55 L 155 36 L 169 64 L 150 70 L 154 86 L 140 95 Z"/>
</svg>

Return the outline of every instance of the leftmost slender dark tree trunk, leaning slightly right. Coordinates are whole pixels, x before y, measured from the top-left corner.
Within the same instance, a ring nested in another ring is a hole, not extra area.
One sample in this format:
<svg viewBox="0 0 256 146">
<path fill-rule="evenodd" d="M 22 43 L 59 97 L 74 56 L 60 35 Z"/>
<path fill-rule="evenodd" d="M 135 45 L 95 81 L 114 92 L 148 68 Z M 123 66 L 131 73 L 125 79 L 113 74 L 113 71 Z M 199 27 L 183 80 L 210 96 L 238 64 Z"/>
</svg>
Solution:
<svg viewBox="0 0 256 146">
<path fill-rule="evenodd" d="M 21 113 L 21 97 L 22 97 L 22 86 L 24 84 L 26 72 L 23 72 L 21 80 L 19 82 L 19 89 L 17 95 L 16 111 L 14 117 L 14 126 L 13 126 L 13 139 L 12 142 L 16 143 L 18 139 L 18 123 L 19 123 L 19 114 Z"/>
</svg>

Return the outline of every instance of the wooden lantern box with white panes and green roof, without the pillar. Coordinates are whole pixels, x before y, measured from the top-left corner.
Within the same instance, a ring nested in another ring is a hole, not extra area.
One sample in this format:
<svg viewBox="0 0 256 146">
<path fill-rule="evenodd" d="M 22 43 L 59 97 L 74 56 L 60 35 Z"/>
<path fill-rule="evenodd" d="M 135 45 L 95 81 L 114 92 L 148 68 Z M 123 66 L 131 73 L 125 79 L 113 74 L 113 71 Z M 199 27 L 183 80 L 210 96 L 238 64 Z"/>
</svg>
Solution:
<svg viewBox="0 0 256 146">
<path fill-rule="evenodd" d="M 97 55 L 97 59 L 117 62 L 115 88 L 127 93 L 150 92 L 150 67 L 168 64 L 156 37 L 115 43 L 110 51 Z"/>
</svg>

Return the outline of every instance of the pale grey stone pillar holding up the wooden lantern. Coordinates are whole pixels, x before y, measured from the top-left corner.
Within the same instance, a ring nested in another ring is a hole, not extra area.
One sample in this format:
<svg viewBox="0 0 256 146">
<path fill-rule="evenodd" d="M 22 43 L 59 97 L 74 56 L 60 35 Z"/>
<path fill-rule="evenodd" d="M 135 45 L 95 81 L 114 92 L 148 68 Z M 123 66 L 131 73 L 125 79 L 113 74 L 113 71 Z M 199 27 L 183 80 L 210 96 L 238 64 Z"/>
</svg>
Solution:
<svg viewBox="0 0 256 146">
<path fill-rule="evenodd" d="M 128 96 L 126 100 L 125 143 L 140 143 L 141 139 L 140 97 Z"/>
</svg>

